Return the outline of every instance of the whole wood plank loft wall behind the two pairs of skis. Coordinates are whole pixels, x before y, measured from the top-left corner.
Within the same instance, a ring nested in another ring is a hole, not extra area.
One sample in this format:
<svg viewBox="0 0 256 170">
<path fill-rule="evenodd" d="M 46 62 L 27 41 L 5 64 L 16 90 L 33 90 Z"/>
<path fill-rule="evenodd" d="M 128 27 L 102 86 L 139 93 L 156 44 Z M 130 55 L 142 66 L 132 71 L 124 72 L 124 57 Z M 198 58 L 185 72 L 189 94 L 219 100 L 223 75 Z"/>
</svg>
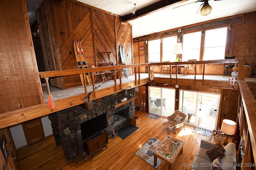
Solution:
<svg viewBox="0 0 256 170">
<path fill-rule="evenodd" d="M 66 70 L 78 67 L 73 49 L 74 40 L 82 41 L 89 67 L 101 66 L 100 63 L 109 63 L 106 51 L 112 52 L 111 62 L 121 63 L 118 56 L 120 44 L 125 47 L 127 64 L 132 64 L 132 26 L 129 23 L 123 25 L 120 17 L 75 0 L 44 0 L 44 2 L 45 7 L 41 6 L 38 10 L 38 15 L 41 16 L 39 23 L 45 25 L 45 27 L 41 27 L 42 37 L 46 37 L 42 42 L 45 42 L 46 39 L 55 40 L 50 43 L 51 48 L 47 45 L 45 48 L 48 70 Z M 51 22 L 43 23 L 45 18 Z M 42 22 L 40 22 L 41 20 Z M 53 37 L 48 35 L 51 32 L 47 32 L 48 29 L 53 30 Z M 54 55 L 53 47 L 58 54 Z M 59 67 L 54 67 L 55 65 Z M 131 69 L 129 74 L 132 74 Z M 53 86 L 62 89 L 82 85 L 79 75 L 65 76 L 63 81 L 62 84 L 51 82 Z"/>
</svg>

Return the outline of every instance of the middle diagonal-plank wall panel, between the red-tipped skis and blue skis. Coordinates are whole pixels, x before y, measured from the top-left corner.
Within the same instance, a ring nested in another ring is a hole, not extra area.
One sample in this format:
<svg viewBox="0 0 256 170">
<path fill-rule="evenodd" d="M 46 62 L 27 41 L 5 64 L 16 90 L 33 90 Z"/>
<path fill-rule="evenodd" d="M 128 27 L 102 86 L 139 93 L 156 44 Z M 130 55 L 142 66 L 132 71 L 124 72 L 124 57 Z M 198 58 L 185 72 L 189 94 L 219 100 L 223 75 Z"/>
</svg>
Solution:
<svg viewBox="0 0 256 170">
<path fill-rule="evenodd" d="M 112 52 L 111 62 L 117 63 L 114 16 L 94 9 L 91 9 L 91 14 L 96 66 L 109 63 L 106 51 Z"/>
</svg>

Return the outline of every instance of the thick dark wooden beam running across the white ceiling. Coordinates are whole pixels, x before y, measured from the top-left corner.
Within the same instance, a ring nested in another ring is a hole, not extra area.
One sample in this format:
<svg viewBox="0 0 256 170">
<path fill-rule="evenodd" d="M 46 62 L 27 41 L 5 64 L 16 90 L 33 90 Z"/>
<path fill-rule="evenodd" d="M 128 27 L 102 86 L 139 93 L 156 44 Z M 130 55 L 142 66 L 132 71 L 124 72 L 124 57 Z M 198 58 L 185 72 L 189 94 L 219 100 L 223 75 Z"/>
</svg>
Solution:
<svg viewBox="0 0 256 170">
<path fill-rule="evenodd" d="M 122 21 L 127 22 L 130 20 L 134 20 L 136 18 L 140 18 L 142 16 L 146 16 L 146 15 L 156 12 L 158 10 L 162 10 L 164 8 L 172 6 L 176 2 L 185 2 L 185 1 L 186 0 L 160 0 L 158 2 L 155 2 L 154 4 L 151 4 L 149 6 L 141 8 L 139 10 L 136 10 L 135 14 L 130 13 L 125 16 L 122 16 Z"/>
</svg>

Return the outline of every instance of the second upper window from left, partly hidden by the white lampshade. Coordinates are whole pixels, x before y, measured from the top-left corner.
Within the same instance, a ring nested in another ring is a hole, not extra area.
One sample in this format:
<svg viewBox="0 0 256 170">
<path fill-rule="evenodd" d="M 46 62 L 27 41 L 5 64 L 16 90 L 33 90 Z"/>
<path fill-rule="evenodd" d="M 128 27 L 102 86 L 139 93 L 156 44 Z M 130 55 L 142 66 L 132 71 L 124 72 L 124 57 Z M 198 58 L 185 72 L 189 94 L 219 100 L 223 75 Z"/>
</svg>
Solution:
<svg viewBox="0 0 256 170">
<path fill-rule="evenodd" d="M 162 39 L 162 61 L 173 62 L 176 58 L 176 55 L 173 55 L 174 44 L 177 43 L 177 37 L 167 37 Z"/>
</svg>

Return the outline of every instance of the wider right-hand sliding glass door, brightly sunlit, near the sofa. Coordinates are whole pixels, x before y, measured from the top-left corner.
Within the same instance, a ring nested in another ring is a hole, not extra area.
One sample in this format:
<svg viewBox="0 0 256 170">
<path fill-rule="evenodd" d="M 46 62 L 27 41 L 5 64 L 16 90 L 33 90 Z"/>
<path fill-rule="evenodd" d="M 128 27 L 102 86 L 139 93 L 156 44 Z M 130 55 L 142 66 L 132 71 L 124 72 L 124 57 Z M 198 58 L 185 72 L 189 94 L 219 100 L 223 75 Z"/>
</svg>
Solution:
<svg viewBox="0 0 256 170">
<path fill-rule="evenodd" d="M 188 115 L 185 122 L 195 127 L 216 129 L 219 105 L 219 94 L 180 90 L 180 111 Z"/>
</svg>

